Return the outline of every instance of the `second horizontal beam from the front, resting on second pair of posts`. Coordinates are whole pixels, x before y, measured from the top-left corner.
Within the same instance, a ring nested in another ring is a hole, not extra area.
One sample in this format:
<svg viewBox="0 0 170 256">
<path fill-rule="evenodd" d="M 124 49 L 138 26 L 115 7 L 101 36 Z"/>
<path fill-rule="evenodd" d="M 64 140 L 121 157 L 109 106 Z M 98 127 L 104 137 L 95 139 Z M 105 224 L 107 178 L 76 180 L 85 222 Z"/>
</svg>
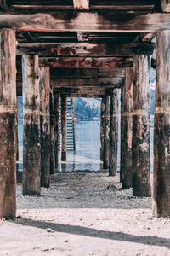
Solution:
<svg viewBox="0 0 170 256">
<path fill-rule="evenodd" d="M 17 55 L 152 55 L 154 43 L 22 43 L 17 45 Z"/>
</svg>

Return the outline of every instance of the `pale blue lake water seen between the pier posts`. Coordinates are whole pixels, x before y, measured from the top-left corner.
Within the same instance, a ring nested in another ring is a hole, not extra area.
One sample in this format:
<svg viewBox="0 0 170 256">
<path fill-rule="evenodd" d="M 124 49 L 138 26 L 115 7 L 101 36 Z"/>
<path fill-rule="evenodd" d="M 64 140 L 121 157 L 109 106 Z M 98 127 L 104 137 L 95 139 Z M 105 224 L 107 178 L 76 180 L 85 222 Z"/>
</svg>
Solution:
<svg viewBox="0 0 170 256">
<path fill-rule="evenodd" d="M 150 127 L 150 171 L 153 170 L 153 120 Z M 75 124 L 76 152 L 67 151 L 66 165 L 59 161 L 58 171 L 89 170 L 99 171 L 100 161 L 100 124 L 99 121 L 80 121 Z M 120 146 L 119 146 L 120 148 Z M 19 170 L 22 170 L 23 157 L 23 120 L 19 119 Z M 120 154 L 118 155 L 120 160 Z M 119 165 L 118 165 L 119 171 Z"/>
</svg>

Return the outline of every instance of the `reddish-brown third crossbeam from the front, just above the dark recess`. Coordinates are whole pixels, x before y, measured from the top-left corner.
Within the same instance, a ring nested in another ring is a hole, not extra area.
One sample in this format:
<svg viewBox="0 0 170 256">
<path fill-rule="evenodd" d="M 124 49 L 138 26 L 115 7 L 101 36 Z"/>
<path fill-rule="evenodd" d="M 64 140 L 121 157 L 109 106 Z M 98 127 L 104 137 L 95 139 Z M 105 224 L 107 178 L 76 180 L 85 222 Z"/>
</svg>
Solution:
<svg viewBox="0 0 170 256">
<path fill-rule="evenodd" d="M 132 57 L 59 57 L 40 58 L 40 66 L 45 67 L 132 67 Z"/>
</svg>

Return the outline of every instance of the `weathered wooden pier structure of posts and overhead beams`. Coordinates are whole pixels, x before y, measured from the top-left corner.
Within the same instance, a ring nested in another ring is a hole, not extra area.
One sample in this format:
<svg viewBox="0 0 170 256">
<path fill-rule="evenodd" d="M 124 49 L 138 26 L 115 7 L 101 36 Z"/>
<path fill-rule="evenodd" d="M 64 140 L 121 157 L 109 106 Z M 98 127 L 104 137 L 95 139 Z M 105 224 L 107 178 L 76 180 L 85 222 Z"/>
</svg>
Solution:
<svg viewBox="0 0 170 256">
<path fill-rule="evenodd" d="M 170 216 L 169 12 L 165 0 L 0 1 L 0 218 L 16 214 L 17 96 L 23 96 L 24 105 L 23 195 L 41 195 L 41 186 L 50 186 L 59 157 L 59 97 L 62 160 L 67 98 L 102 98 L 101 159 L 116 175 L 121 90 L 122 188 L 151 196 L 153 63 L 153 216 Z"/>
</svg>

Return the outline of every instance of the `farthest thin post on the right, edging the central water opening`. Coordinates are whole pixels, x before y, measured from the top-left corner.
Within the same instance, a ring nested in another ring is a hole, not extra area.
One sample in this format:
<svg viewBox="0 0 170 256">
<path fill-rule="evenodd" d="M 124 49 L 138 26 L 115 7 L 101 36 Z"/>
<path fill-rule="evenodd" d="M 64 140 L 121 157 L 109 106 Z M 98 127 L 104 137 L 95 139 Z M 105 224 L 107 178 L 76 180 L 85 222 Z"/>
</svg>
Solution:
<svg viewBox="0 0 170 256">
<path fill-rule="evenodd" d="M 105 141 L 105 98 L 101 100 L 100 110 L 100 160 L 104 160 L 104 141 Z"/>
</svg>

